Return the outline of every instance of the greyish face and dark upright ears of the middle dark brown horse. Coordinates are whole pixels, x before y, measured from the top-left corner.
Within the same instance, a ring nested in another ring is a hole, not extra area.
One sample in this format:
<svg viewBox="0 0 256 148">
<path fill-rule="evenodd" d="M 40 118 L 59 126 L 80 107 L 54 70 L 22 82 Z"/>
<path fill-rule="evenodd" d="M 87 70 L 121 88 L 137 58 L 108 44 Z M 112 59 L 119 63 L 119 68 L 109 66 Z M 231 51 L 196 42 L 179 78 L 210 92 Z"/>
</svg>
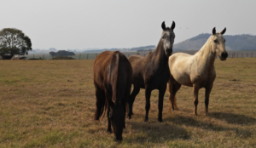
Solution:
<svg viewBox="0 0 256 148">
<path fill-rule="evenodd" d="M 175 34 L 173 29 L 175 28 L 175 22 L 172 21 L 171 28 L 166 27 L 165 21 L 162 23 L 163 33 L 161 36 L 161 41 L 163 43 L 163 47 L 165 49 L 166 56 L 172 55 L 172 47 L 174 43 Z"/>
</svg>

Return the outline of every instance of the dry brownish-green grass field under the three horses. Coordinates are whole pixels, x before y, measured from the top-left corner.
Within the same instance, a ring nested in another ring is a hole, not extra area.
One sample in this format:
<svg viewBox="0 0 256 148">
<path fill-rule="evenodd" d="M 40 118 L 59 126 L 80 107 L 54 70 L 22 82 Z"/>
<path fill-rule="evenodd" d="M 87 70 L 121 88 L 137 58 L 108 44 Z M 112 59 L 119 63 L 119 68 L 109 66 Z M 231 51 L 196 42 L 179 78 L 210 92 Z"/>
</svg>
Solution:
<svg viewBox="0 0 256 148">
<path fill-rule="evenodd" d="M 107 133 L 107 117 L 93 120 L 92 65 L 93 60 L 0 60 L 0 147 L 256 147 L 255 58 L 215 61 L 208 117 L 205 89 L 195 117 L 192 88 L 182 87 L 179 111 L 169 109 L 166 93 L 161 123 L 154 90 L 149 121 L 143 122 L 142 89 L 120 144 Z"/>
</svg>

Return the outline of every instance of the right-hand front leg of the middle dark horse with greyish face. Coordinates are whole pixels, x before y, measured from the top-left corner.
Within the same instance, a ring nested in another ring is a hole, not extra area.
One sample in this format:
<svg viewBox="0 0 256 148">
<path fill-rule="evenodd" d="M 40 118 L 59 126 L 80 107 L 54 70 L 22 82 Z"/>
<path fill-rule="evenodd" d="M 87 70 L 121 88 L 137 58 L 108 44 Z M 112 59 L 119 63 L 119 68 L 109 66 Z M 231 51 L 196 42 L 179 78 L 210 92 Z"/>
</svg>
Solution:
<svg viewBox="0 0 256 148">
<path fill-rule="evenodd" d="M 163 112 L 163 103 L 164 96 L 166 93 L 166 85 L 159 89 L 159 98 L 158 98 L 158 121 L 163 122 L 162 112 Z"/>
</svg>

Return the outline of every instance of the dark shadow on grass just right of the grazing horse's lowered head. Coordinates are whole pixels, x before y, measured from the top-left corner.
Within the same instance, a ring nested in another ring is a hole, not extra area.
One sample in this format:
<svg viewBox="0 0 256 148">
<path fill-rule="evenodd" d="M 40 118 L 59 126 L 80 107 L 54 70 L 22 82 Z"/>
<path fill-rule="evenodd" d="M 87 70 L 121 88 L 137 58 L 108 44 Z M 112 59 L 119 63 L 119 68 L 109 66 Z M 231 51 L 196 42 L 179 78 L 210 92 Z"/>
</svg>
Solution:
<svg viewBox="0 0 256 148">
<path fill-rule="evenodd" d="M 126 134 L 127 143 L 162 143 L 172 139 L 190 139 L 186 129 L 165 122 L 127 122 L 131 133 Z"/>
</svg>

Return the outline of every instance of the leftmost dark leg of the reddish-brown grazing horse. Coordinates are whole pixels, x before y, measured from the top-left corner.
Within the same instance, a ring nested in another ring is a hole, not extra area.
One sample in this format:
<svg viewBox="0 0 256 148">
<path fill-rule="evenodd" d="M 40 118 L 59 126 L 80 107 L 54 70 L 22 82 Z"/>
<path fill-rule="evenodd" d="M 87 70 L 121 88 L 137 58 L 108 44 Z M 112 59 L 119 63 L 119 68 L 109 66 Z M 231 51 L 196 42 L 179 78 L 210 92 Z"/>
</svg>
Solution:
<svg viewBox="0 0 256 148">
<path fill-rule="evenodd" d="M 104 111 L 104 105 L 105 105 L 105 93 L 104 91 L 97 86 L 95 83 L 96 88 L 96 111 L 95 111 L 95 120 L 99 120 L 99 118 L 102 116 L 102 113 Z"/>
</svg>

